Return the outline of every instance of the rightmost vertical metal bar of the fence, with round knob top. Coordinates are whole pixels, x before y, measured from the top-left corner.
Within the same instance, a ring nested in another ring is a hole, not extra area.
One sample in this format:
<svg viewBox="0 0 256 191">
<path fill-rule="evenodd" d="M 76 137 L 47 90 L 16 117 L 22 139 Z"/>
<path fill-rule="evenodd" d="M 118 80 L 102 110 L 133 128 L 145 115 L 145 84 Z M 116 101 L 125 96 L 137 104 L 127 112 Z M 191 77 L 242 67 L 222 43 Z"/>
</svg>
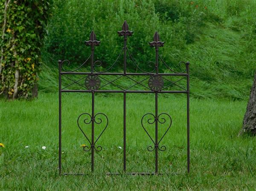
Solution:
<svg viewBox="0 0 256 191">
<path fill-rule="evenodd" d="M 190 171 L 190 121 L 189 121 L 189 62 L 186 62 L 186 71 L 187 71 L 187 168 L 188 173 Z"/>
</svg>

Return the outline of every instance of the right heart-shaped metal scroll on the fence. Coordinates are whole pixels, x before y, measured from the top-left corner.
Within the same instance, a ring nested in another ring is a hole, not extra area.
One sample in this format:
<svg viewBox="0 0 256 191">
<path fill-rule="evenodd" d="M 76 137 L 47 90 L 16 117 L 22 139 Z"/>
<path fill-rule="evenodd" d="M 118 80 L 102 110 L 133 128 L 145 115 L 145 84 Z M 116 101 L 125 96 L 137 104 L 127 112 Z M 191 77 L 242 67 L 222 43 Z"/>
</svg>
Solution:
<svg viewBox="0 0 256 191">
<path fill-rule="evenodd" d="M 147 114 L 145 114 L 145 115 L 143 115 L 143 117 L 142 117 L 142 119 L 141 119 L 141 125 L 142 125 L 142 127 L 143 127 L 143 129 L 144 129 L 144 131 L 148 134 L 148 137 L 152 140 L 152 142 L 154 143 L 154 145 L 156 145 L 156 143 L 154 142 L 154 140 L 152 139 L 152 137 L 150 136 L 150 134 L 148 133 L 148 131 L 146 130 L 146 128 L 145 128 L 145 126 L 143 125 L 143 119 L 146 117 L 146 116 L 151 116 L 151 118 L 149 118 L 148 120 L 147 120 L 147 122 L 148 122 L 148 124 L 154 124 L 155 122 L 156 122 L 156 120 L 157 120 L 157 122 L 159 122 L 159 123 L 161 123 L 161 124 L 164 124 L 164 123 L 166 123 L 166 119 L 165 119 L 165 117 L 163 117 L 164 115 L 166 115 L 167 117 L 169 117 L 169 119 L 170 119 L 170 124 L 169 124 L 169 126 L 168 126 L 168 128 L 167 128 L 167 130 L 165 131 L 165 133 L 163 134 L 163 136 L 160 138 L 160 140 L 158 141 L 158 143 L 157 143 L 157 145 L 159 145 L 159 143 L 163 140 L 163 137 L 166 135 L 166 133 L 169 131 L 169 129 L 171 128 L 171 125 L 172 125 L 172 118 L 171 118 L 171 116 L 169 115 L 169 114 L 166 114 L 166 113 L 162 113 L 162 114 L 159 114 L 158 115 L 158 117 L 157 117 L 157 119 L 156 119 L 156 117 L 154 116 L 154 114 L 151 114 L 151 113 L 147 113 Z M 162 116 L 162 117 L 161 117 Z M 161 117 L 161 118 L 160 118 Z M 157 147 L 160 151 L 165 151 L 166 150 L 166 146 L 161 146 L 161 147 Z M 148 151 L 154 151 L 154 149 L 155 149 L 155 147 L 152 147 L 151 145 L 149 145 L 148 146 Z"/>
</svg>

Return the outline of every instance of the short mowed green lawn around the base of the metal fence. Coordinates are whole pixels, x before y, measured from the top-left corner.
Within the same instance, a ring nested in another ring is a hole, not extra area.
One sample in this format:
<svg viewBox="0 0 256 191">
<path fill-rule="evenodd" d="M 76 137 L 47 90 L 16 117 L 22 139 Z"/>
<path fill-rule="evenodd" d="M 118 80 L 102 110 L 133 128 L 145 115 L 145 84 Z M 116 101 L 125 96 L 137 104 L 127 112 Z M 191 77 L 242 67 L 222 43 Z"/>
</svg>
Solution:
<svg viewBox="0 0 256 191">
<path fill-rule="evenodd" d="M 40 94 L 32 101 L 0 100 L 0 190 L 255 190 L 256 139 L 238 137 L 245 101 L 191 99 L 191 172 L 186 172 L 186 97 L 159 96 L 159 114 L 168 113 L 172 126 L 160 143 L 159 171 L 163 175 L 112 175 L 122 172 L 122 94 L 96 94 L 95 112 L 108 116 L 108 128 L 96 146 L 95 172 L 90 173 L 90 152 L 76 120 L 91 113 L 90 94 L 63 93 L 62 151 L 64 173 L 58 175 L 58 94 Z M 141 126 L 146 113 L 154 113 L 154 94 L 127 95 L 127 171 L 153 172 L 154 152 Z M 103 119 L 103 118 L 102 118 Z M 167 118 L 166 118 L 167 119 Z M 96 125 L 96 137 L 106 121 Z M 159 127 L 162 135 L 166 123 Z M 81 123 L 82 125 L 82 123 Z M 146 125 L 154 137 L 154 125 Z M 90 137 L 90 125 L 82 125 Z M 25 146 L 29 148 L 25 148 Z M 42 146 L 46 146 L 43 150 Z"/>
</svg>

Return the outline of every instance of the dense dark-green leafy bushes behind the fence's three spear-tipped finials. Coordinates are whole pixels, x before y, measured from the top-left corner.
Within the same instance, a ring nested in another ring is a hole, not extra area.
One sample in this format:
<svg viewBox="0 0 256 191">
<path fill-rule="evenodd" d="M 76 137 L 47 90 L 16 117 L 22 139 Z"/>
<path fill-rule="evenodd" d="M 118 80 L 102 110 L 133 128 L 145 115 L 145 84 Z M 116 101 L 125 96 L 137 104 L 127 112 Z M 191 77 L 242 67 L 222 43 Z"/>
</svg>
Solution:
<svg viewBox="0 0 256 191">
<path fill-rule="evenodd" d="M 173 5 L 175 7 L 170 9 Z M 74 64 L 83 63 L 90 52 L 84 40 L 89 39 L 93 29 L 97 39 L 102 41 L 96 48 L 96 57 L 101 59 L 103 66 L 111 66 L 123 44 L 117 31 L 127 20 L 130 30 L 134 31 L 128 39 L 128 48 L 139 66 L 147 69 L 147 61 L 154 59 L 154 50 L 148 42 L 153 40 L 155 31 L 166 42 L 162 52 L 175 52 L 194 41 L 195 35 L 191 34 L 200 30 L 205 15 L 200 11 L 205 10 L 190 9 L 189 6 L 185 1 L 56 0 L 55 17 L 47 28 L 46 50 L 61 59 L 68 58 Z M 179 58 L 168 55 L 167 61 L 176 65 Z M 130 62 L 128 68 L 132 69 L 134 65 Z"/>
</svg>

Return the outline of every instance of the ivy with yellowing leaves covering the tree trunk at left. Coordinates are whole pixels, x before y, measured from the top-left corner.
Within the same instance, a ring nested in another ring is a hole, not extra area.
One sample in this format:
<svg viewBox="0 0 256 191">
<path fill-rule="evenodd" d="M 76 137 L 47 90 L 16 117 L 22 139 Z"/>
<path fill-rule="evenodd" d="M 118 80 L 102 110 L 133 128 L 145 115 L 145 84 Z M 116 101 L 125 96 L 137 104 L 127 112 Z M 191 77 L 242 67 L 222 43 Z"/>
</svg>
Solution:
<svg viewBox="0 0 256 191">
<path fill-rule="evenodd" d="M 44 26 L 51 0 L 0 0 L 0 94 L 37 96 Z"/>
</svg>

